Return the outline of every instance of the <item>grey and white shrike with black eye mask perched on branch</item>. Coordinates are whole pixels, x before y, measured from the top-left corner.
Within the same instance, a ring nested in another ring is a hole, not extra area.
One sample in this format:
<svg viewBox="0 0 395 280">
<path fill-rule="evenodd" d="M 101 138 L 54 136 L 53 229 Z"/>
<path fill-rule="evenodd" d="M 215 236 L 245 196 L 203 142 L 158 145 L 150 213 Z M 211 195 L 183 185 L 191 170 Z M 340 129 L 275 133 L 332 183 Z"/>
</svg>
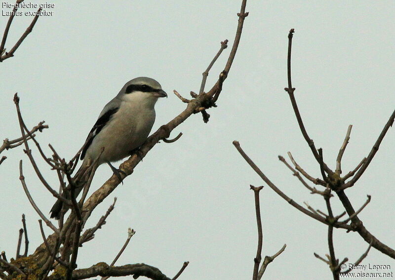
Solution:
<svg viewBox="0 0 395 280">
<path fill-rule="evenodd" d="M 107 163 L 121 180 L 119 173 L 123 172 L 112 166 L 111 162 L 129 156 L 147 140 L 155 122 L 155 104 L 162 97 L 167 98 L 166 92 L 152 78 L 137 77 L 128 81 L 118 95 L 104 106 L 89 132 L 80 155 L 83 161 L 75 178 L 84 174 L 96 161 L 96 167 Z M 82 189 L 83 184 L 77 183 L 75 197 Z M 69 192 L 63 195 L 70 198 Z M 59 219 L 62 207 L 63 202 L 58 199 L 50 210 L 51 218 Z"/>
</svg>

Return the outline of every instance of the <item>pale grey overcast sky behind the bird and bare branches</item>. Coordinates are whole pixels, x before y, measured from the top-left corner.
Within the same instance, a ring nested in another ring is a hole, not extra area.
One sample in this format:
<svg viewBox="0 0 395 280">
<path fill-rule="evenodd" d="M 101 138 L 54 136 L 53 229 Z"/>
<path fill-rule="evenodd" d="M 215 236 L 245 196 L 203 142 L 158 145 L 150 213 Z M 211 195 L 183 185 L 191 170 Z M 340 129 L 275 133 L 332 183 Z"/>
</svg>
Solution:
<svg viewBox="0 0 395 280">
<path fill-rule="evenodd" d="M 27 1 L 28 2 L 28 1 Z M 40 1 L 32 1 L 40 3 Z M 220 41 L 230 40 L 211 70 L 207 88 L 224 68 L 237 27 L 239 0 L 201 1 L 56 1 L 53 16 L 40 17 L 15 57 L 0 64 L 1 139 L 20 136 L 12 98 L 21 99 L 29 127 L 45 120 L 49 129 L 38 140 L 71 158 L 83 144 L 102 107 L 128 80 L 149 76 L 168 93 L 156 105 L 153 132 L 179 114 L 183 104 L 176 89 L 189 97 L 198 91 Z M 10 8 L 3 10 L 11 10 Z M 31 9 L 21 9 L 23 11 Z M 249 184 L 262 180 L 232 145 L 238 140 L 261 170 L 289 197 L 326 212 L 321 197 L 309 194 L 278 161 L 291 151 L 311 175 L 319 167 L 297 126 L 287 86 L 287 34 L 295 29 L 292 78 L 295 95 L 310 137 L 322 147 L 335 168 L 347 127 L 351 140 L 343 157 L 343 173 L 365 157 L 395 108 L 394 1 L 248 1 L 236 59 L 217 108 L 174 130 L 175 143 L 156 145 L 118 188 L 97 207 L 89 227 L 104 214 L 115 196 L 118 202 L 107 224 L 79 250 L 78 267 L 111 263 L 127 237 L 136 230 L 118 265 L 141 263 L 158 267 L 172 278 L 190 261 L 180 279 L 250 279 L 256 254 L 254 195 Z M 9 50 L 32 17 L 14 18 Z M 0 18 L 1 33 L 8 17 Z M 381 242 L 395 247 L 395 132 L 391 128 L 368 170 L 348 189 L 354 208 L 366 195 L 370 204 L 359 217 Z M 39 160 L 42 173 L 57 188 L 55 173 Z M 48 213 L 55 198 L 40 184 L 22 147 L 4 151 L 0 166 L 0 250 L 15 255 L 21 214 L 26 214 L 29 253 L 42 243 L 38 214 L 18 179 L 24 160 L 26 182 L 36 203 Z M 91 190 L 112 175 L 101 166 Z M 343 212 L 332 199 L 335 214 Z M 328 253 L 327 226 L 302 214 L 269 187 L 261 192 L 263 256 L 286 250 L 269 265 L 265 279 L 332 279 L 314 252 Z M 51 233 L 45 228 L 45 233 Z M 356 233 L 335 230 L 339 259 L 351 262 L 366 250 Z M 363 264 L 395 261 L 372 248 Z M 365 271 L 374 272 L 374 271 Z"/>
</svg>

